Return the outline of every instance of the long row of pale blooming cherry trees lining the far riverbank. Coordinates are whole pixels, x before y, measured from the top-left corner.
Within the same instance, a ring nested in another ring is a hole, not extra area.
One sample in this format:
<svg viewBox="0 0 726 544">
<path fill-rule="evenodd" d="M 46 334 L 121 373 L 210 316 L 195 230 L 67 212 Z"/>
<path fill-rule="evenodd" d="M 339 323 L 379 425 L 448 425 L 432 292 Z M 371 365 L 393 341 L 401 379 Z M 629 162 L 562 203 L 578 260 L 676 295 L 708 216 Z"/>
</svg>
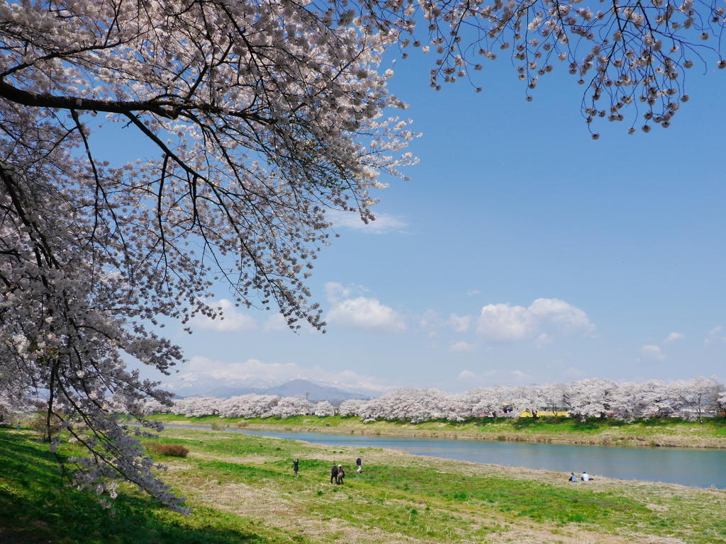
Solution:
<svg viewBox="0 0 726 544">
<path fill-rule="evenodd" d="M 171 411 L 184 416 L 219 415 L 223 418 L 287 417 L 300 414 L 358 416 L 363 421 L 433 419 L 463 421 L 470 417 L 518 415 L 528 412 L 566 411 L 581 419 L 613 417 L 625 421 L 657 416 L 700 419 L 726 409 L 726 387 L 716 376 L 694 376 L 690 380 L 648 380 L 618 384 L 607 379 L 586 379 L 567 384 L 525 387 L 478 387 L 461 393 L 407 387 L 371 400 L 345 400 L 335 411 L 327 401 L 314 404 L 304 397 L 242 395 L 229 399 L 189 397 L 167 408 L 155 401 L 147 411 Z"/>
</svg>

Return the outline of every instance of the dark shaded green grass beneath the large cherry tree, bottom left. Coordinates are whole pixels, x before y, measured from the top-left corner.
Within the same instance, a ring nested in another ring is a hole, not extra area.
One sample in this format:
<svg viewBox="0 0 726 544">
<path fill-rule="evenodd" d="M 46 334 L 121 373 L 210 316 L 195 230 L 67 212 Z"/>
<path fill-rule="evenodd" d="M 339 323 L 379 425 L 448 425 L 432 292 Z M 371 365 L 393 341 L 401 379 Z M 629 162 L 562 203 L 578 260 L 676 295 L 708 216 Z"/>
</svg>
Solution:
<svg viewBox="0 0 726 544">
<path fill-rule="evenodd" d="M 0 542 L 3 544 L 277 544 L 291 535 L 250 519 L 199 508 L 185 518 L 138 492 L 113 510 L 61 487 L 57 460 L 28 433 L 0 430 Z"/>
</svg>

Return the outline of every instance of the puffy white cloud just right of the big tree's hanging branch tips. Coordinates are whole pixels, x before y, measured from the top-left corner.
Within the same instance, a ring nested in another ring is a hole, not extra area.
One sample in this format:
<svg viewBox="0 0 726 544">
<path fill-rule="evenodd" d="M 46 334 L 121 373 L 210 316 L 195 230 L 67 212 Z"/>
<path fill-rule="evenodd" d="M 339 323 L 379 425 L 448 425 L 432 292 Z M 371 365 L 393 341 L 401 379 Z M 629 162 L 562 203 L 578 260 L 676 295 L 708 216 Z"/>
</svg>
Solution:
<svg viewBox="0 0 726 544">
<path fill-rule="evenodd" d="M 367 332 L 402 332 L 406 321 L 396 310 L 381 304 L 372 297 L 346 298 L 340 300 L 338 294 L 349 296 L 352 290 L 340 284 L 326 284 L 330 310 L 325 321 L 341 329 Z"/>
</svg>

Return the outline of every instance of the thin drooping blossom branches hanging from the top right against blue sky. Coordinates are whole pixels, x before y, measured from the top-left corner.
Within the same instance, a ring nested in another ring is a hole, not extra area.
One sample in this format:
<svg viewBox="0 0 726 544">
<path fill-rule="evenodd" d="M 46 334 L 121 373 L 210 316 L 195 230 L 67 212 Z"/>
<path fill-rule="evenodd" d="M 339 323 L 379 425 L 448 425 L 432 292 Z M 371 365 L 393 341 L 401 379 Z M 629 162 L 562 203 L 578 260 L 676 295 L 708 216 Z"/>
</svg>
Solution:
<svg viewBox="0 0 726 544">
<path fill-rule="evenodd" d="M 531 101 L 539 78 L 563 63 L 585 87 L 582 113 L 587 123 L 598 118 L 623 121 L 624 110 L 631 107 L 641 119 L 629 117 L 628 132 L 634 133 L 640 122 L 644 132 L 653 125 L 670 125 L 689 99 L 685 70 L 696 63 L 726 67 L 722 51 L 726 9 L 719 4 L 718 0 L 613 0 L 605 5 L 603 0 L 408 0 L 395 6 L 404 57 L 409 46 L 435 53 L 433 88 L 457 80 L 476 87 L 473 71 L 483 69 L 481 58 L 507 55 Z"/>
</svg>

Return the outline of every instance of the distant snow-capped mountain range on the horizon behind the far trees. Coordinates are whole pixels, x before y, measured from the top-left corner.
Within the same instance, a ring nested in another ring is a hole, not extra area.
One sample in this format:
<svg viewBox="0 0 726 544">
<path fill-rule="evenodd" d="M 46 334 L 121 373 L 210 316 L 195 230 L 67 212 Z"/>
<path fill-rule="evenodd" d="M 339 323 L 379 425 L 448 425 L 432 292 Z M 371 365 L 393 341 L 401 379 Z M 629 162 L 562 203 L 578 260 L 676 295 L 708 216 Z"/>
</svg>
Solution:
<svg viewBox="0 0 726 544">
<path fill-rule="evenodd" d="M 391 387 L 372 384 L 330 384 L 305 378 L 294 378 L 280 382 L 266 382 L 255 376 L 213 376 L 189 372 L 160 385 L 163 390 L 176 393 L 176 397 L 238 397 L 256 395 L 278 395 L 280 397 L 306 396 L 309 400 L 348 400 L 378 397 Z"/>
</svg>

